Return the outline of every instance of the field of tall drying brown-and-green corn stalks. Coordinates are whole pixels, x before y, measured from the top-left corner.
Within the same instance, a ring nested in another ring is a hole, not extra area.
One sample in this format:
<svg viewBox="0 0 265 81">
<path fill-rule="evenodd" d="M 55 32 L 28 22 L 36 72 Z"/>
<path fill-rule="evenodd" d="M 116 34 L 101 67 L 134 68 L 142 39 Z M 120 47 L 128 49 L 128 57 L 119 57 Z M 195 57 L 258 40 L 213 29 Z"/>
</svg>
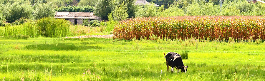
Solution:
<svg viewBox="0 0 265 81">
<path fill-rule="evenodd" d="M 121 21 L 113 38 L 130 40 L 152 36 L 166 39 L 247 40 L 265 39 L 262 16 L 175 16 L 134 18 Z"/>
</svg>

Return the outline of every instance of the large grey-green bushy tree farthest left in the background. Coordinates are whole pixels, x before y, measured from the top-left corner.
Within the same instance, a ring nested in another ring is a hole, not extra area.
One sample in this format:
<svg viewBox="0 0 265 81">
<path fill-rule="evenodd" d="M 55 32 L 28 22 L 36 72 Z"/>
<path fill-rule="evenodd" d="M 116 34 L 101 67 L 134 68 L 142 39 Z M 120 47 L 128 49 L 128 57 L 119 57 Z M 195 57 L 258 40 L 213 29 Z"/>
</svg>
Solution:
<svg viewBox="0 0 265 81">
<path fill-rule="evenodd" d="M 14 3 L 12 4 L 8 10 L 4 14 L 6 16 L 6 19 L 9 20 L 9 22 L 16 21 L 22 17 L 24 18 L 32 18 L 32 7 L 31 5 L 27 4 L 19 4 Z"/>
</svg>

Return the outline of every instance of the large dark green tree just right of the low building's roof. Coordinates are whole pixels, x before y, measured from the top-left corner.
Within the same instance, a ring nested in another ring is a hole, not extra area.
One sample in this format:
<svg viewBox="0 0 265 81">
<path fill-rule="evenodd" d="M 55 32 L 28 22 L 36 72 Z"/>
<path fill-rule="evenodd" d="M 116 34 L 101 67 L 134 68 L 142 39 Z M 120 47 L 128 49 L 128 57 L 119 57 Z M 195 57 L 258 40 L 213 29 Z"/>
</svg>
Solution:
<svg viewBox="0 0 265 81">
<path fill-rule="evenodd" d="M 95 14 L 102 19 L 107 19 L 108 14 L 112 12 L 113 8 L 113 0 L 98 0 L 95 7 Z"/>
</svg>

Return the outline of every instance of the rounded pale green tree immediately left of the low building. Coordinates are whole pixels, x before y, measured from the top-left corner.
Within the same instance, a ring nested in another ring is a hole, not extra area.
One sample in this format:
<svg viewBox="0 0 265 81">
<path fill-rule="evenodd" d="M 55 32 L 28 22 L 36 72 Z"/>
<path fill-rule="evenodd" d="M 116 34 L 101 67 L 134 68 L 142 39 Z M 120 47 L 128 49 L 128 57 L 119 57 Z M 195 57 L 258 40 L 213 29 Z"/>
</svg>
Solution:
<svg viewBox="0 0 265 81">
<path fill-rule="evenodd" d="M 44 17 L 54 17 L 55 11 L 51 4 L 39 4 L 34 10 L 34 19 L 40 19 Z"/>
</svg>

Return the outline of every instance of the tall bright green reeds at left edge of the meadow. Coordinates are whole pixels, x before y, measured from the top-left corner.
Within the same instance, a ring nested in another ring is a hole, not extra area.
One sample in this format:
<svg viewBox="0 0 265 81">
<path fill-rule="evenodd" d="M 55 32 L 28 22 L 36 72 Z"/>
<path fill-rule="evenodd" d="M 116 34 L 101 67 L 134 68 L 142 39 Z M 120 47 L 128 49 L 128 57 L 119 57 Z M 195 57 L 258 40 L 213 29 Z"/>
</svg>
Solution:
<svg viewBox="0 0 265 81">
<path fill-rule="evenodd" d="M 42 18 L 37 20 L 37 23 L 27 22 L 17 26 L 5 26 L 4 36 L 14 37 L 25 35 L 31 38 L 39 36 L 64 37 L 70 34 L 69 26 L 69 21 L 63 19 Z"/>
</svg>

